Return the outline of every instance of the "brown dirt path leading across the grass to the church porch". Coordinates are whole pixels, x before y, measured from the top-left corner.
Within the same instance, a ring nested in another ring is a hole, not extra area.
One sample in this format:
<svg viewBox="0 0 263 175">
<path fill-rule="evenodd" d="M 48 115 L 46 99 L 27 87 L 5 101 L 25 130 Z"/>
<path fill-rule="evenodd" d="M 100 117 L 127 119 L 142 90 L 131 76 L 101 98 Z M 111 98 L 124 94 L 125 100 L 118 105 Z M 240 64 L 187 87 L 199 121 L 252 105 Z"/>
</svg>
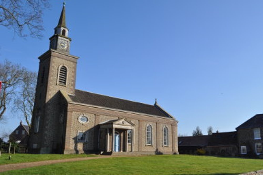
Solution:
<svg viewBox="0 0 263 175">
<path fill-rule="evenodd" d="M 129 155 L 115 155 L 115 156 L 97 156 L 97 157 L 82 157 L 82 158 L 71 158 L 71 159 L 59 159 L 59 160 L 48 160 L 48 161 L 39 161 L 39 162 L 26 162 L 26 163 L 14 163 L 14 164 L 4 164 L 0 165 L 0 172 L 10 171 L 15 169 L 37 167 L 42 165 L 50 165 L 54 163 L 63 163 L 63 162 L 74 162 L 74 161 L 84 161 L 91 159 L 103 159 L 110 157 L 130 157 Z"/>
</svg>

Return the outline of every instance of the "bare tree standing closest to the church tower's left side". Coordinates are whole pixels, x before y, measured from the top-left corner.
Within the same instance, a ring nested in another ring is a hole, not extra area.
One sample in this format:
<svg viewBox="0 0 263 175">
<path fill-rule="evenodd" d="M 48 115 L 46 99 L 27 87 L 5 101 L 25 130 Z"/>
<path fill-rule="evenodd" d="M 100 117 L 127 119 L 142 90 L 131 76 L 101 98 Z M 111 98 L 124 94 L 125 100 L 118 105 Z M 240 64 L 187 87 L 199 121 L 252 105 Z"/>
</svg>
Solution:
<svg viewBox="0 0 263 175">
<path fill-rule="evenodd" d="M 22 86 L 20 86 L 19 92 L 14 99 L 13 110 L 23 113 L 23 117 L 30 129 L 36 93 L 37 73 L 24 70 L 22 78 Z"/>
</svg>

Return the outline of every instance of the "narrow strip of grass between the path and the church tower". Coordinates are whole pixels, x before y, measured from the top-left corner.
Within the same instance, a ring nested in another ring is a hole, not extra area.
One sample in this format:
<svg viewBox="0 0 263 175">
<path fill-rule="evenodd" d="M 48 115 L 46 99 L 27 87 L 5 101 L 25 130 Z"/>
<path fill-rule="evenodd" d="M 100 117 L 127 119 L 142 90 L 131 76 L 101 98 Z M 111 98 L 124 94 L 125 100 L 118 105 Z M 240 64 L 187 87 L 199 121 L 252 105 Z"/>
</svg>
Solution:
<svg viewBox="0 0 263 175">
<path fill-rule="evenodd" d="M 11 160 L 9 160 L 9 156 Z M 70 159 L 78 157 L 91 157 L 90 154 L 2 154 L 0 157 L 0 165 L 11 163 L 36 162 L 56 159 Z"/>
</svg>

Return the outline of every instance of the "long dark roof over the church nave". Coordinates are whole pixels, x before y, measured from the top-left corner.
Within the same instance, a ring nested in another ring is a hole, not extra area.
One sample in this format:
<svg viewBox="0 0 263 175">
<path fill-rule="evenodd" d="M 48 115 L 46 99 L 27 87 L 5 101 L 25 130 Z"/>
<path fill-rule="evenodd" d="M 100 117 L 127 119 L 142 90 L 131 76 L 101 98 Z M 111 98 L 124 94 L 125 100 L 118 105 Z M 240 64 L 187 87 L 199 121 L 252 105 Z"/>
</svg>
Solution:
<svg viewBox="0 0 263 175">
<path fill-rule="evenodd" d="M 91 92 L 81 91 L 78 89 L 75 89 L 75 95 L 68 94 L 68 96 L 73 102 L 77 103 L 91 104 L 95 106 L 102 106 L 107 108 L 121 109 L 125 111 L 173 118 L 168 113 L 161 110 L 160 108 L 158 108 L 158 106 L 155 105 L 149 105 L 125 99 L 104 96 Z"/>
</svg>

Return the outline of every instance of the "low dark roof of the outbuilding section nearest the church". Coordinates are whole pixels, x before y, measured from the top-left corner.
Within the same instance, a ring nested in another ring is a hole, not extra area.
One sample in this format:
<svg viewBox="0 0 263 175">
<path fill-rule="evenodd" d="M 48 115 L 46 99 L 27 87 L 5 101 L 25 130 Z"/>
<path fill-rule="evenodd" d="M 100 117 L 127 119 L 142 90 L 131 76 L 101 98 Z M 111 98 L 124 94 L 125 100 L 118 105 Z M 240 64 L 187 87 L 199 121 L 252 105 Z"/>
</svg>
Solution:
<svg viewBox="0 0 263 175">
<path fill-rule="evenodd" d="M 178 146 L 206 147 L 210 136 L 178 137 Z"/>
</svg>

